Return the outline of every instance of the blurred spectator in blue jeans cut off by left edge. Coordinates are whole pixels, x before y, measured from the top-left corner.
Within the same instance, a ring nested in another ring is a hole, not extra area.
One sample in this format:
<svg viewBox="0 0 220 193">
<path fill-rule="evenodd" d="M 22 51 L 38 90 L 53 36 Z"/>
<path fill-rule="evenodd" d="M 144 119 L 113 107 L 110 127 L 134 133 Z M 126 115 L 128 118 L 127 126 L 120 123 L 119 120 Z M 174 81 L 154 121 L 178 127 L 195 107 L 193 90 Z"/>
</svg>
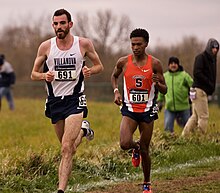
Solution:
<svg viewBox="0 0 220 193">
<path fill-rule="evenodd" d="M 3 54 L 0 55 L 0 110 L 1 110 L 1 100 L 3 96 L 6 97 L 8 101 L 8 106 L 10 110 L 14 110 L 14 100 L 11 91 L 11 85 L 15 84 L 15 73 L 9 62 L 5 60 Z"/>
</svg>

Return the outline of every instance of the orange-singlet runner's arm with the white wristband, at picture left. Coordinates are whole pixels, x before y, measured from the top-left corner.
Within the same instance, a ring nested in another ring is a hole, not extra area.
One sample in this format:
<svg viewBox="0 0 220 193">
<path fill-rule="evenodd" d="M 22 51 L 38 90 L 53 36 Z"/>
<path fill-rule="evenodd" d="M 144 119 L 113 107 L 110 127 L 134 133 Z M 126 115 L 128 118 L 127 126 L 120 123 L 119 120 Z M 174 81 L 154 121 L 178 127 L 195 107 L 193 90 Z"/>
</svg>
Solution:
<svg viewBox="0 0 220 193">
<path fill-rule="evenodd" d="M 121 75 L 121 73 L 123 72 L 123 69 L 125 68 L 126 63 L 127 63 L 127 57 L 122 57 L 117 61 L 116 65 L 115 65 L 115 68 L 114 68 L 112 75 L 111 75 L 111 83 L 112 83 L 113 90 L 118 88 L 118 78 Z M 114 95 L 115 95 L 114 103 L 117 105 L 121 105 L 122 104 L 122 96 L 121 96 L 118 89 L 116 89 L 114 91 Z"/>
</svg>

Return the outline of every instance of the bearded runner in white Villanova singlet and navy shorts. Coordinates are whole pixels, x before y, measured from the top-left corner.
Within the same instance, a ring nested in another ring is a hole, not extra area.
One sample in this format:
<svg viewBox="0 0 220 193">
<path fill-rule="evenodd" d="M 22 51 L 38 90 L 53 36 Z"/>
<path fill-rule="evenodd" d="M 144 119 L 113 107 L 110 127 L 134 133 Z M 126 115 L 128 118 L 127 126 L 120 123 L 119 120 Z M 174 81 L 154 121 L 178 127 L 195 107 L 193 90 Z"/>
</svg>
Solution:
<svg viewBox="0 0 220 193">
<path fill-rule="evenodd" d="M 55 11 L 52 26 L 56 37 L 39 46 L 31 78 L 46 81 L 48 97 L 45 114 L 51 118 L 61 143 L 58 193 L 64 193 L 73 155 L 89 130 L 81 129 L 83 117 L 87 116 L 84 78 L 100 73 L 103 65 L 89 39 L 70 34 L 73 22 L 68 11 Z M 85 66 L 85 56 L 90 59 L 92 67 Z M 85 121 L 83 125 L 88 127 Z"/>
</svg>

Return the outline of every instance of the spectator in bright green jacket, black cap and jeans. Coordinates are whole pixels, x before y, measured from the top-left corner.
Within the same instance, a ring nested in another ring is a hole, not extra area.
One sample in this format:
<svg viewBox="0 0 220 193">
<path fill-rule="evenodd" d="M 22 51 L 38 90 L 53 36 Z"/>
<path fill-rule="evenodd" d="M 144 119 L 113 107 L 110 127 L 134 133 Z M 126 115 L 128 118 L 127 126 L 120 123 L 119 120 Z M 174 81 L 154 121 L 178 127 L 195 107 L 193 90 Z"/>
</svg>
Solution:
<svg viewBox="0 0 220 193">
<path fill-rule="evenodd" d="M 164 110 L 164 129 L 174 134 L 174 122 L 184 127 L 190 117 L 189 89 L 192 86 L 192 77 L 183 70 L 179 59 L 172 56 L 168 60 L 168 71 L 164 73 L 167 85 L 167 94 L 158 95 L 158 106 Z"/>
</svg>

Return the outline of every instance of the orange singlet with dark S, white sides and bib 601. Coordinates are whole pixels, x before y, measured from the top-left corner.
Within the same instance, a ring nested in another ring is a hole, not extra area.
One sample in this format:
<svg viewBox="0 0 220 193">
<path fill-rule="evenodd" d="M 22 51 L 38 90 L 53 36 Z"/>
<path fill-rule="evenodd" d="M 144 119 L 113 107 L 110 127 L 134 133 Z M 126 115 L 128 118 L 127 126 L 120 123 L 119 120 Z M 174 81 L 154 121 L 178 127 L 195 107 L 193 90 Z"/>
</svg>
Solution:
<svg viewBox="0 0 220 193">
<path fill-rule="evenodd" d="M 123 103 L 131 112 L 147 112 L 155 105 L 155 87 L 152 81 L 152 56 L 148 55 L 144 66 L 137 67 L 128 55 L 123 76 Z"/>
</svg>

